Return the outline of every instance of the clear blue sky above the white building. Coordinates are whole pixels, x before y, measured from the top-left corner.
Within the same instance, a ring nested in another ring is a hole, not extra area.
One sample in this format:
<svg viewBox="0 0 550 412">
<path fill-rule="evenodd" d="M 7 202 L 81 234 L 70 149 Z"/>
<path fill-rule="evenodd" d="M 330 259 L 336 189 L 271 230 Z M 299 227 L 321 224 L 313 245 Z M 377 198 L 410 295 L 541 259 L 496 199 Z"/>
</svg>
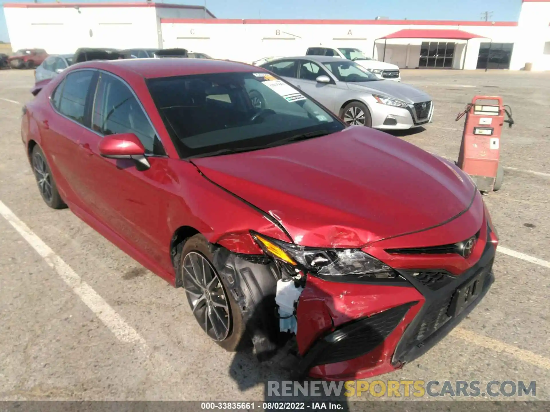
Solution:
<svg viewBox="0 0 550 412">
<path fill-rule="evenodd" d="M 5 3 L 29 2 L 32 0 L 11 0 Z M 99 2 L 102 1 L 62 0 L 62 3 Z M 159 2 L 205 4 L 200 0 Z M 387 16 L 390 19 L 409 20 L 480 20 L 481 13 L 487 10 L 493 12 L 490 20 L 517 21 L 521 0 L 206 0 L 206 8 L 219 19 L 373 19 L 376 16 Z M 0 8 L 0 40 L 9 41 L 3 8 Z"/>
</svg>

